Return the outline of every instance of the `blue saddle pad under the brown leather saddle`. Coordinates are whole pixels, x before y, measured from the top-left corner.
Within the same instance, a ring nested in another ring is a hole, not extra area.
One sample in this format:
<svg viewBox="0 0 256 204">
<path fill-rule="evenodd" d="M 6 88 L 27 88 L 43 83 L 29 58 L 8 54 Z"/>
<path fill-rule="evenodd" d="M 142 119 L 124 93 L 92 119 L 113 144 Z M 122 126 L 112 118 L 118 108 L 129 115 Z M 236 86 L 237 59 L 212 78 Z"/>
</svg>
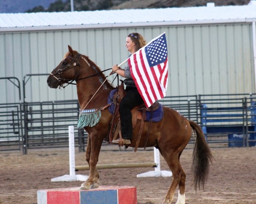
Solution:
<svg viewBox="0 0 256 204">
<path fill-rule="evenodd" d="M 113 95 L 116 93 L 117 89 L 113 89 L 108 96 L 108 103 L 113 102 Z M 114 103 L 111 104 L 111 106 L 108 107 L 108 111 L 113 114 L 114 113 L 115 105 Z M 152 118 L 151 118 L 152 115 Z M 160 104 L 159 108 L 151 114 L 151 111 L 146 112 L 146 120 L 145 121 L 151 121 L 152 122 L 160 122 L 163 119 L 163 105 Z"/>
</svg>

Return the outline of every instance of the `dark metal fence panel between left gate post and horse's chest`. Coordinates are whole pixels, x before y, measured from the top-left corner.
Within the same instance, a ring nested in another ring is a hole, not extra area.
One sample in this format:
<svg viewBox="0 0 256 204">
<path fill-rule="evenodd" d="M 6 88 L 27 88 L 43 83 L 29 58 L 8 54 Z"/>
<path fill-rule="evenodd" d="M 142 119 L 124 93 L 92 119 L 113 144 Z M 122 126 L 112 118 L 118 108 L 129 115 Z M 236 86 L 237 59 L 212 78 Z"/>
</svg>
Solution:
<svg viewBox="0 0 256 204">
<path fill-rule="evenodd" d="M 27 149 L 67 147 L 67 128 L 76 127 L 79 104 L 73 101 L 46 101 L 23 104 L 24 154 Z M 74 129 L 79 150 L 87 144 L 83 129 Z"/>
</svg>

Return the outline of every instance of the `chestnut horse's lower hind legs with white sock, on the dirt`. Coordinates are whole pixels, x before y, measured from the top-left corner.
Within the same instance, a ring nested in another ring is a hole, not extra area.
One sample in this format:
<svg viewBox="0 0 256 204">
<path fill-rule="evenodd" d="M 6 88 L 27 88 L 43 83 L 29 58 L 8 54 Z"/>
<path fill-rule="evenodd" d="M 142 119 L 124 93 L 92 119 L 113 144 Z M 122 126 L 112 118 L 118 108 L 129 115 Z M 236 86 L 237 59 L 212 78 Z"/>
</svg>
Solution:
<svg viewBox="0 0 256 204">
<path fill-rule="evenodd" d="M 166 160 L 169 168 L 172 171 L 172 184 L 168 192 L 166 193 L 163 204 L 171 204 L 177 185 L 179 185 L 179 195 L 178 195 L 178 201 L 176 204 L 185 204 L 186 174 L 183 171 L 182 167 L 180 166 L 180 161 L 179 161 L 180 154 L 176 152 L 174 153 L 163 152 L 163 158 Z"/>
</svg>

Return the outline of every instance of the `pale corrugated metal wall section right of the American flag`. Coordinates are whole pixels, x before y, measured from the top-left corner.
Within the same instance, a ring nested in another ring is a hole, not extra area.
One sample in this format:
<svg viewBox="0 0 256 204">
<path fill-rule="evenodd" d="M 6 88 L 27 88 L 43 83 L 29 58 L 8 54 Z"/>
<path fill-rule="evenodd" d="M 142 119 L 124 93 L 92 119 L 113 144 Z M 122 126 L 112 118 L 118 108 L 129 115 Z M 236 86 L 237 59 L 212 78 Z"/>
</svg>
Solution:
<svg viewBox="0 0 256 204">
<path fill-rule="evenodd" d="M 170 95 L 254 92 L 249 24 L 170 28 Z"/>
</svg>

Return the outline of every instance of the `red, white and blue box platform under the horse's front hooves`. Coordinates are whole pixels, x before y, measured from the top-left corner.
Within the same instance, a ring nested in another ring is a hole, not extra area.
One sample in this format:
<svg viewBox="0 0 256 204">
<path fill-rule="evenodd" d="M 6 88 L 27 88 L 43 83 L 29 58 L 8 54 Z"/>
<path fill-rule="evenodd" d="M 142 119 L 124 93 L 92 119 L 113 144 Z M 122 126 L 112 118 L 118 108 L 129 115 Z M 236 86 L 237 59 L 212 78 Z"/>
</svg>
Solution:
<svg viewBox="0 0 256 204">
<path fill-rule="evenodd" d="M 92 190 L 38 190 L 38 204 L 137 204 L 137 190 L 128 186 L 100 186 Z"/>
</svg>

